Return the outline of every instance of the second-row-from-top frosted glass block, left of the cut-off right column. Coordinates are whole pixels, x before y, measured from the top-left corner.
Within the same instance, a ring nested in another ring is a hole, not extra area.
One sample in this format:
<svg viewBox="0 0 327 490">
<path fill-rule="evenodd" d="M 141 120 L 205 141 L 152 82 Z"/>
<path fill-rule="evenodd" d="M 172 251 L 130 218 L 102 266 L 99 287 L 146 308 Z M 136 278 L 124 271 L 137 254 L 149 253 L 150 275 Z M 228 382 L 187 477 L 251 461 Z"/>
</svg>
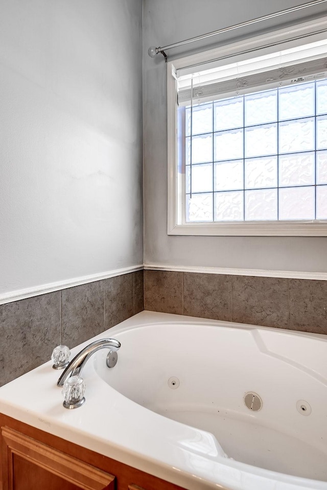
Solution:
<svg viewBox="0 0 327 490">
<path fill-rule="evenodd" d="M 314 127 L 314 118 L 281 122 L 279 124 L 279 153 L 314 150 Z"/>
</svg>

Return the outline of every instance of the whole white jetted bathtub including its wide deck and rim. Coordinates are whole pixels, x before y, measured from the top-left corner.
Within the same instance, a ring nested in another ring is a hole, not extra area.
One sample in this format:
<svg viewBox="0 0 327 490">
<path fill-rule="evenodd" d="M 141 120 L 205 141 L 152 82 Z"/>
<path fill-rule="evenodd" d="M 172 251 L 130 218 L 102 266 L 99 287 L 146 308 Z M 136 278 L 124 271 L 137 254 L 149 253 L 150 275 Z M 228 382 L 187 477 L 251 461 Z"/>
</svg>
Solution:
<svg viewBox="0 0 327 490">
<path fill-rule="evenodd" d="M 49 361 L 0 412 L 189 490 L 327 490 L 326 336 L 144 311 L 104 337 L 118 363 L 89 359 L 82 407 Z"/>
</svg>

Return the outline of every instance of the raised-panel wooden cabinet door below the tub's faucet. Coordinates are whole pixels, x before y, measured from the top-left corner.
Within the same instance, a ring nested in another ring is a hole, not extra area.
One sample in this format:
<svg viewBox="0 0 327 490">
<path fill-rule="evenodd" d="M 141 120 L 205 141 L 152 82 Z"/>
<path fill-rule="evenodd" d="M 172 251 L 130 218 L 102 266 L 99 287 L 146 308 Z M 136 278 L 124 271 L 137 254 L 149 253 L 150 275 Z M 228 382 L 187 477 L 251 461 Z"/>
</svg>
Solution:
<svg viewBox="0 0 327 490">
<path fill-rule="evenodd" d="M 115 477 L 9 427 L 2 428 L 3 490 L 114 490 Z"/>
</svg>

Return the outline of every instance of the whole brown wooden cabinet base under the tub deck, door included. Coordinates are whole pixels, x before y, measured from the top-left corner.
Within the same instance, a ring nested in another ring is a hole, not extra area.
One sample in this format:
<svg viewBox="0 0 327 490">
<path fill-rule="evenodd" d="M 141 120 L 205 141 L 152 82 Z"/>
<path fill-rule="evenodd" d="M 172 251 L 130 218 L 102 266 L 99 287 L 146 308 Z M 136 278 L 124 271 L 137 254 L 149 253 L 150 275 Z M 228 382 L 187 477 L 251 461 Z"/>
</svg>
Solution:
<svg viewBox="0 0 327 490">
<path fill-rule="evenodd" d="M 183 490 L 6 415 L 0 427 L 3 490 Z"/>
</svg>

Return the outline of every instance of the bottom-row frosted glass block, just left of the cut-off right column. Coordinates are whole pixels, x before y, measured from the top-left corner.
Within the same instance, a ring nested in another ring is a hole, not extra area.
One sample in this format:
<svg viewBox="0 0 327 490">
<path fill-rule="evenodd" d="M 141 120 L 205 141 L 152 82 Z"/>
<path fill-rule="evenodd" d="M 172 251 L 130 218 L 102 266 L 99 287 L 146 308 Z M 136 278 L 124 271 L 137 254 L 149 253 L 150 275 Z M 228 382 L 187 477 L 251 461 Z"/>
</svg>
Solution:
<svg viewBox="0 0 327 490">
<path fill-rule="evenodd" d="M 279 189 L 279 219 L 314 218 L 314 187 L 286 187 Z"/>
</svg>

